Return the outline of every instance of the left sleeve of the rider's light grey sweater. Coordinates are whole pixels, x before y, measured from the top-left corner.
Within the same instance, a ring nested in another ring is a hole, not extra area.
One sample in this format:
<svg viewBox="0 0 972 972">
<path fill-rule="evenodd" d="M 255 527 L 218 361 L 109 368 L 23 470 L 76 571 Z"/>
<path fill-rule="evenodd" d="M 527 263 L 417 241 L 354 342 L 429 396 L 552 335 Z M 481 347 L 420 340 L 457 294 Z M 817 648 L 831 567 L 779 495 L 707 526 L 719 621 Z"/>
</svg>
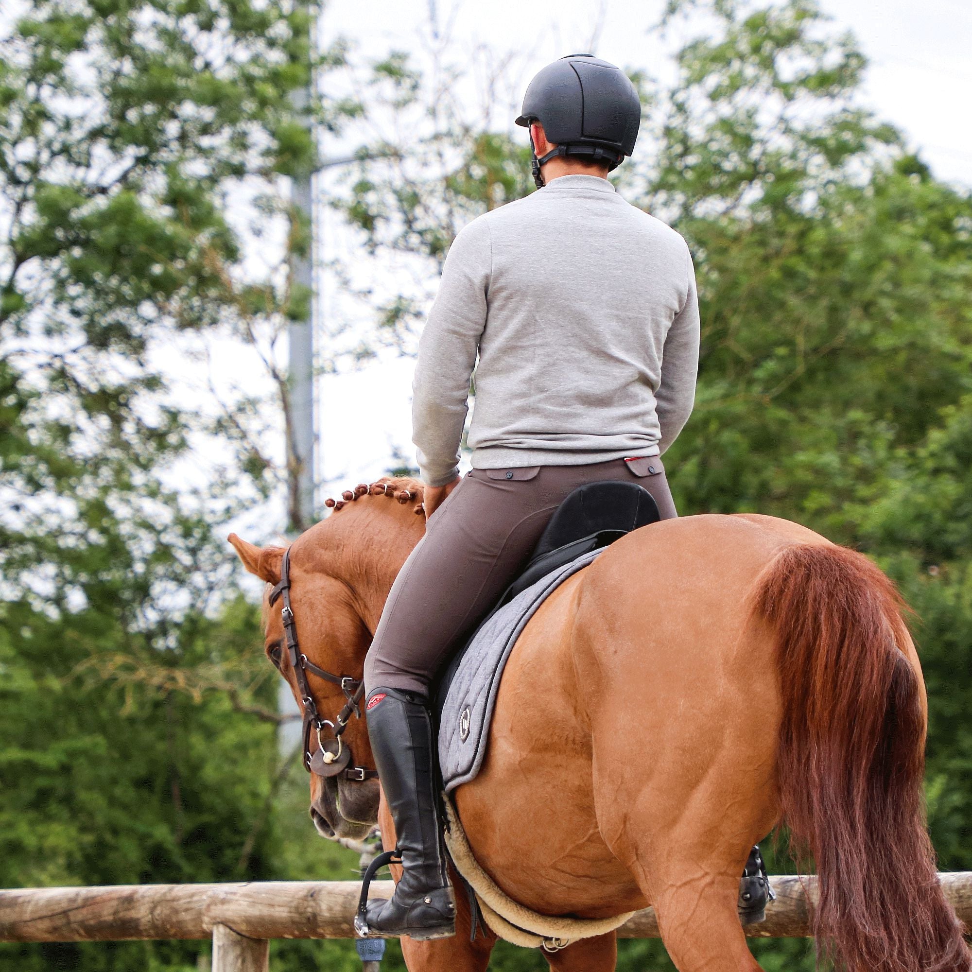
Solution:
<svg viewBox="0 0 972 972">
<path fill-rule="evenodd" d="M 469 383 L 486 327 L 492 271 L 489 226 L 480 217 L 449 248 L 412 382 L 412 441 L 422 481 L 444 486 L 459 472 Z"/>
</svg>

